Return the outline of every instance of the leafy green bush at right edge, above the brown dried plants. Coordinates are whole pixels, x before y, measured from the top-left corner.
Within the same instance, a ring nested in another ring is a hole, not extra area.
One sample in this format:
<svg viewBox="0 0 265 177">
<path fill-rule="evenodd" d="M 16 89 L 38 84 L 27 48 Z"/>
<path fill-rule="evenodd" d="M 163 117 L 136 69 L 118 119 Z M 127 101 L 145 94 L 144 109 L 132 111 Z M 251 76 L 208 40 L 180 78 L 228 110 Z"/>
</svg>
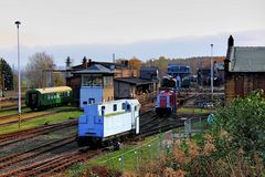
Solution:
<svg viewBox="0 0 265 177">
<path fill-rule="evenodd" d="M 265 160 L 265 98 L 263 91 L 255 91 L 245 98 L 235 98 L 230 106 L 216 112 L 212 132 L 214 136 L 226 132 L 233 140 L 223 145 L 223 139 L 218 140 L 219 146 L 242 148 L 253 158 L 258 153 Z"/>
</svg>

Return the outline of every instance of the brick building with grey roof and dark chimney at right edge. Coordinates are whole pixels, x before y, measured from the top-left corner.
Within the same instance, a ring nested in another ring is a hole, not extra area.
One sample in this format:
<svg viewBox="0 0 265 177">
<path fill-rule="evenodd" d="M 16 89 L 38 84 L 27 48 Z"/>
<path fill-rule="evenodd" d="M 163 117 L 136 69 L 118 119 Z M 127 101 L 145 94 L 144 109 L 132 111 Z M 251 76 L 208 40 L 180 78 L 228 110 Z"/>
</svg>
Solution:
<svg viewBox="0 0 265 177">
<path fill-rule="evenodd" d="M 265 46 L 234 46 L 232 35 L 227 44 L 224 60 L 225 102 L 257 88 L 265 90 Z"/>
</svg>

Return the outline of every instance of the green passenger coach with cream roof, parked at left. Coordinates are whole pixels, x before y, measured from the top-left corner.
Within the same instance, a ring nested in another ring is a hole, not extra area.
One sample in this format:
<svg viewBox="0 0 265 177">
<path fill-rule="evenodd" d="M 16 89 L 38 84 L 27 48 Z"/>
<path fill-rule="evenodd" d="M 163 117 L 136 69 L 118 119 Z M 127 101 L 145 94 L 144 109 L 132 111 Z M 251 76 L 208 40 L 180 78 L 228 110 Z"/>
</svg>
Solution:
<svg viewBox="0 0 265 177">
<path fill-rule="evenodd" d="M 25 92 L 25 105 L 33 111 L 67 105 L 71 101 L 72 88 L 68 86 L 32 88 Z"/>
</svg>

